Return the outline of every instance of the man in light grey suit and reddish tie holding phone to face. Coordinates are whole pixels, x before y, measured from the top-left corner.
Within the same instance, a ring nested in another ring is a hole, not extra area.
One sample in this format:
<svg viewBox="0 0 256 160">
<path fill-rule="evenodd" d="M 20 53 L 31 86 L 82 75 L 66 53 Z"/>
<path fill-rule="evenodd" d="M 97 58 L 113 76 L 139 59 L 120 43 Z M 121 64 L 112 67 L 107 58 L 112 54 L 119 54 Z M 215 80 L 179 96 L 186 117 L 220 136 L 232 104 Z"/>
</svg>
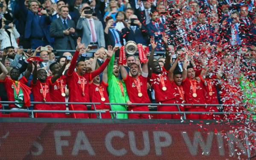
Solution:
<svg viewBox="0 0 256 160">
<path fill-rule="evenodd" d="M 84 7 L 76 28 L 83 29 L 82 43 L 86 47 L 88 45 L 96 46 L 96 48 L 105 47 L 102 23 L 99 20 L 93 19 L 92 9 L 90 7 Z"/>
</svg>

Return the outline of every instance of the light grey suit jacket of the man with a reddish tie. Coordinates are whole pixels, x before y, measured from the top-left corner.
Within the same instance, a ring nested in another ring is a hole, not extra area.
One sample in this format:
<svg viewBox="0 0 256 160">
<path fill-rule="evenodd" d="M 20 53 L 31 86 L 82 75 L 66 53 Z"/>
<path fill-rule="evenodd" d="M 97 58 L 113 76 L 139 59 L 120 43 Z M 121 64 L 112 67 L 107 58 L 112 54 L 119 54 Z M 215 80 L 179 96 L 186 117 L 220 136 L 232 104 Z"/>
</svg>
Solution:
<svg viewBox="0 0 256 160">
<path fill-rule="evenodd" d="M 104 31 L 103 31 L 102 23 L 99 20 L 93 20 L 93 21 L 94 21 L 98 45 L 99 47 L 105 47 L 105 39 L 104 39 Z M 91 41 L 90 39 L 91 32 L 90 32 L 90 25 L 88 23 L 88 20 L 80 17 L 77 22 L 76 29 L 83 30 L 81 43 L 84 43 L 85 46 L 87 47 Z"/>
</svg>

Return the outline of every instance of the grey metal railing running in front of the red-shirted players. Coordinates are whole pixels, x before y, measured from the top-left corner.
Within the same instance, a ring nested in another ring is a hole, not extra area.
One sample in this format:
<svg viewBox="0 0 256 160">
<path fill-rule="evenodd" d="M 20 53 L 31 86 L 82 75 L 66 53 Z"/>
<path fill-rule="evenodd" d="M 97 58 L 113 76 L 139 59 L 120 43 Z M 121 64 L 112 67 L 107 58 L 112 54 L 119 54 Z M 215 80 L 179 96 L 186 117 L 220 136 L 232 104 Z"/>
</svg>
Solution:
<svg viewBox="0 0 256 160">
<path fill-rule="evenodd" d="M 15 102 L 13 101 L 0 101 L 0 103 L 3 106 L 6 106 L 7 104 L 14 104 Z M 99 105 L 101 103 L 99 102 L 31 102 L 32 106 L 34 104 L 65 104 L 65 105 L 89 105 L 93 106 L 93 108 L 96 108 L 96 105 Z M 104 103 L 105 105 L 127 105 L 126 103 Z M 127 114 L 132 114 L 132 113 L 137 113 L 137 114 L 182 114 L 183 119 L 186 119 L 186 114 L 241 114 L 243 112 L 191 112 L 191 111 L 181 111 L 180 106 L 204 106 L 204 107 L 211 107 L 211 106 L 216 106 L 217 108 L 222 108 L 224 106 L 233 106 L 233 107 L 238 107 L 238 106 L 243 106 L 245 107 L 245 104 L 243 105 L 234 105 L 234 104 L 222 104 L 222 105 L 216 105 L 216 104 L 162 104 L 162 103 L 133 103 L 132 105 L 147 105 L 150 106 L 151 108 L 157 108 L 157 105 L 160 106 L 177 106 L 179 111 L 109 111 L 109 113 L 113 114 L 114 118 L 116 118 L 118 113 L 127 113 Z M 102 118 L 102 113 L 106 113 L 106 111 L 101 111 L 101 110 L 94 110 L 94 111 L 68 111 L 68 110 L 0 110 L 1 112 L 26 112 L 26 113 L 31 113 L 31 117 L 34 118 L 33 114 L 34 113 L 97 113 L 99 114 L 99 119 Z M 256 113 L 252 113 L 256 114 Z M 76 118 L 76 117 L 75 117 Z"/>
</svg>

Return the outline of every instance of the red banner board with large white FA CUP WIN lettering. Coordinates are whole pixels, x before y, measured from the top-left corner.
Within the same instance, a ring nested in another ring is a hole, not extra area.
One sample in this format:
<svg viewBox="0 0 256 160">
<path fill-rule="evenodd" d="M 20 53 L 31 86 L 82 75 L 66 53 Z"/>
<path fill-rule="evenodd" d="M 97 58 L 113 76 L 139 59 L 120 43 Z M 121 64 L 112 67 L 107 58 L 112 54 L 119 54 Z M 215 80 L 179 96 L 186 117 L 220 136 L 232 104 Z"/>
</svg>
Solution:
<svg viewBox="0 0 256 160">
<path fill-rule="evenodd" d="M 236 129 L 242 125 L 203 121 L 170 123 L 171 120 L 109 123 L 111 119 L 99 120 L 94 123 L 86 122 L 86 119 L 77 122 L 71 119 L 5 122 L 1 118 L 0 159 L 247 159 L 244 134 Z"/>
</svg>

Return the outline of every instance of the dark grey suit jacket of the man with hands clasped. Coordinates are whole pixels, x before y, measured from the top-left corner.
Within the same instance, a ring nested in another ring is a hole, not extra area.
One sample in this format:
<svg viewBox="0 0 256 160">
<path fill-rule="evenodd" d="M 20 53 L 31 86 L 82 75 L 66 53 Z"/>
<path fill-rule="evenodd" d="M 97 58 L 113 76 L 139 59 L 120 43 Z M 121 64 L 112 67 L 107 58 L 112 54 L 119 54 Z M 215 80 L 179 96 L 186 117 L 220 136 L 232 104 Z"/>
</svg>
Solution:
<svg viewBox="0 0 256 160">
<path fill-rule="evenodd" d="M 67 19 L 68 28 L 76 28 L 73 20 Z M 65 25 L 62 23 L 61 18 L 54 20 L 50 27 L 50 36 L 55 38 L 54 49 L 66 49 L 68 41 L 70 41 L 72 49 L 76 49 L 75 39 L 77 38 L 77 33 L 74 35 L 65 35 L 63 31 L 65 30 Z"/>
</svg>

